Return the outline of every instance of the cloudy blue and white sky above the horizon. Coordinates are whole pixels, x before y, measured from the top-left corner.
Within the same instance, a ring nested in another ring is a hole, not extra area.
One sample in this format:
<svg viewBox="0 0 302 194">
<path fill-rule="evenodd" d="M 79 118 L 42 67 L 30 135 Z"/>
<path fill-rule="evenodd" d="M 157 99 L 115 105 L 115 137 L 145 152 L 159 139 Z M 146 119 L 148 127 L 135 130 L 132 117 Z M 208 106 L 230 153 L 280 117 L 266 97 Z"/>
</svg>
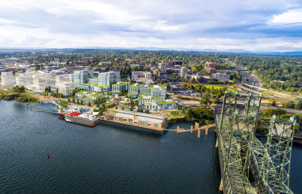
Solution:
<svg viewBox="0 0 302 194">
<path fill-rule="evenodd" d="M 0 47 L 302 51 L 302 1 L 1 0 Z"/>
</svg>

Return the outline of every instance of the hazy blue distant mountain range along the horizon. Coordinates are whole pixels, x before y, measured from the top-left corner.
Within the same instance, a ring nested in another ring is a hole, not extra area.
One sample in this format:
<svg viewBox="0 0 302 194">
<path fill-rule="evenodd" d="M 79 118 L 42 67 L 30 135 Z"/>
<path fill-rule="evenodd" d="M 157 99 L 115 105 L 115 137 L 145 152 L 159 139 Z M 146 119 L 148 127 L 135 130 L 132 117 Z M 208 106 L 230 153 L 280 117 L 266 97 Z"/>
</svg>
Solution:
<svg viewBox="0 0 302 194">
<path fill-rule="evenodd" d="M 184 51 L 184 52 L 214 52 L 214 53 L 235 53 L 235 54 L 257 54 L 257 55 L 281 55 L 281 56 L 302 56 L 302 51 L 293 52 L 250 52 L 243 49 L 229 49 L 229 50 L 215 50 L 215 49 L 183 49 L 183 48 L 158 48 L 158 47 L 135 47 L 135 48 L 121 48 L 121 47 L 75 47 L 75 48 L 43 48 L 43 47 L 0 47 L 0 52 L 7 51 L 61 51 L 72 52 L 75 49 L 112 49 L 112 50 L 171 50 L 171 51 Z"/>
</svg>

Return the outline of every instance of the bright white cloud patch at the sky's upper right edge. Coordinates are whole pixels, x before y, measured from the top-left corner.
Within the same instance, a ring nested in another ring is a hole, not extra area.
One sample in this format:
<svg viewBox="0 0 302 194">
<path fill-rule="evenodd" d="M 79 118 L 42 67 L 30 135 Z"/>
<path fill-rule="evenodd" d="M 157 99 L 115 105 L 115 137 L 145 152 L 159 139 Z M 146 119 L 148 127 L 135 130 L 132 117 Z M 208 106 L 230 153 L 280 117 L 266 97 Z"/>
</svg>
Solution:
<svg viewBox="0 0 302 194">
<path fill-rule="evenodd" d="M 274 15 L 268 23 L 297 23 L 302 22 L 302 9 L 289 10 L 280 15 Z"/>
</svg>

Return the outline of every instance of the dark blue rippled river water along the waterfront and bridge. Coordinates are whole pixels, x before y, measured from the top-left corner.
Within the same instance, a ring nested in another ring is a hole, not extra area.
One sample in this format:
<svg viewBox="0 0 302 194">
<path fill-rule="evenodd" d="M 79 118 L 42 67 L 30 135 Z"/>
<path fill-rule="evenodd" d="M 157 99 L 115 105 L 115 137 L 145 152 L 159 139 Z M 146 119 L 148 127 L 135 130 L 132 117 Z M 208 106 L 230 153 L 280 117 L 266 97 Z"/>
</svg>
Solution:
<svg viewBox="0 0 302 194">
<path fill-rule="evenodd" d="M 220 193 L 212 131 L 198 138 L 197 131 L 156 135 L 103 124 L 88 128 L 5 100 L 0 122 L 0 193 Z M 301 157 L 302 148 L 294 146 L 295 193 Z"/>
</svg>

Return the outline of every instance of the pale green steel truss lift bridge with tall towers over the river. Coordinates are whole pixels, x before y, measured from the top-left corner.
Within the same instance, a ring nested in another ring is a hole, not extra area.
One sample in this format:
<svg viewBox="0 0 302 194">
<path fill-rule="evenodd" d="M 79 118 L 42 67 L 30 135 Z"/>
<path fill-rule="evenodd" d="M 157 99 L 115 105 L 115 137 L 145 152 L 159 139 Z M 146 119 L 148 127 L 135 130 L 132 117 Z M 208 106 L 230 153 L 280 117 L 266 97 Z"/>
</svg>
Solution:
<svg viewBox="0 0 302 194">
<path fill-rule="evenodd" d="M 246 101 L 244 109 L 236 108 L 239 97 Z M 295 115 L 290 119 L 260 116 L 261 99 L 261 94 L 224 93 L 221 114 L 215 118 L 224 193 L 292 193 L 289 170 Z M 264 145 L 255 137 L 260 119 L 270 124 Z"/>
</svg>

